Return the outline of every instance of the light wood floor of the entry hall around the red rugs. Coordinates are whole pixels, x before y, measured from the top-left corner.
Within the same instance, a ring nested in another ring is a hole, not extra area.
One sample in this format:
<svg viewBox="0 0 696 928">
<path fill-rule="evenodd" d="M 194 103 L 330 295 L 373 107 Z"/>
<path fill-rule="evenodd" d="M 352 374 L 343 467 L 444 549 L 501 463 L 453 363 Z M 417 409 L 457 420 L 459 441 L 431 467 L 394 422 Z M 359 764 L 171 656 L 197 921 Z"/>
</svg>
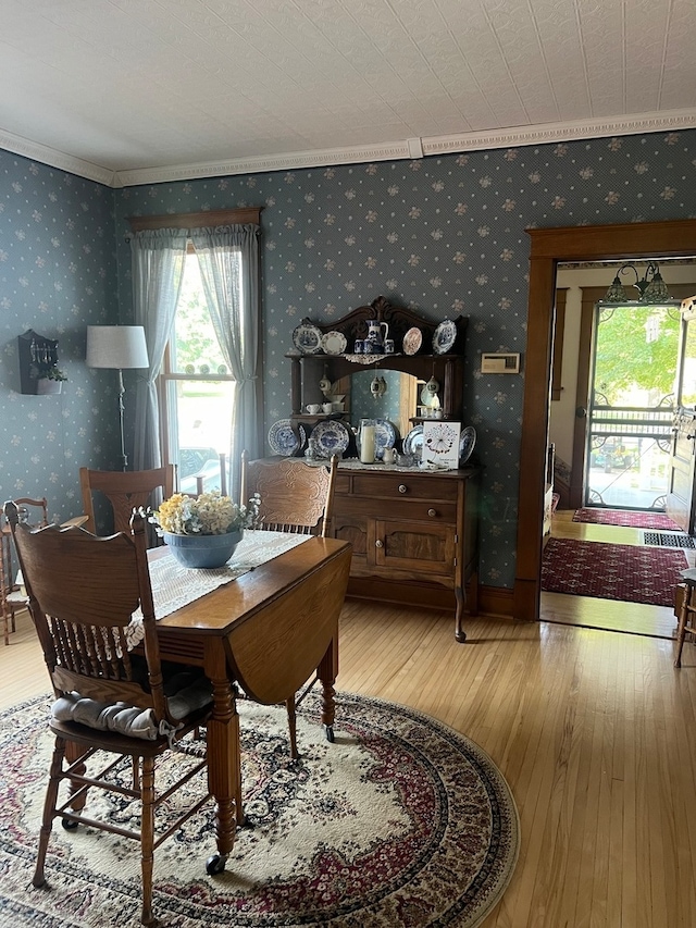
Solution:
<svg viewBox="0 0 696 928">
<path fill-rule="evenodd" d="M 624 525 L 595 525 L 573 522 L 574 509 L 557 511 L 551 524 L 551 537 L 641 545 L 643 530 Z M 674 548 L 672 548 L 674 550 Z M 689 567 L 696 564 L 696 550 L 683 548 Z M 673 639 L 676 630 L 674 609 L 644 603 L 618 603 L 613 599 L 595 599 L 589 596 L 568 596 L 564 593 L 542 593 L 542 618 L 549 622 L 600 628 L 632 634 L 657 635 Z"/>
</svg>

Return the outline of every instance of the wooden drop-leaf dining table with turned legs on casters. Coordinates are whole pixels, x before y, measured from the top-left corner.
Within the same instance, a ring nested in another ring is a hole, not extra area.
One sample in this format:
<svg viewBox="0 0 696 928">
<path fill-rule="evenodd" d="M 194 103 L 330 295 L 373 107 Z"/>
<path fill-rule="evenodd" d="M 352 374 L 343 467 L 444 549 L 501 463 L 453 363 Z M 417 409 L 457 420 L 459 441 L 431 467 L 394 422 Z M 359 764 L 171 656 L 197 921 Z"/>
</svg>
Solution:
<svg viewBox="0 0 696 928">
<path fill-rule="evenodd" d="M 263 540 L 257 547 L 263 549 Z M 151 574 L 157 560 L 172 558 L 166 547 L 153 548 L 149 556 Z M 333 740 L 338 617 L 350 560 L 349 543 L 303 536 L 276 555 L 271 544 L 270 559 L 258 556 L 231 582 L 196 593 L 184 605 L 174 603 L 177 607 L 162 618 L 154 596 L 161 659 L 201 667 L 212 684 L 207 754 L 217 853 L 207 863 L 209 874 L 224 869 L 236 828 L 245 821 L 238 691 L 264 705 L 286 703 L 315 675 L 321 725 Z"/>
</svg>

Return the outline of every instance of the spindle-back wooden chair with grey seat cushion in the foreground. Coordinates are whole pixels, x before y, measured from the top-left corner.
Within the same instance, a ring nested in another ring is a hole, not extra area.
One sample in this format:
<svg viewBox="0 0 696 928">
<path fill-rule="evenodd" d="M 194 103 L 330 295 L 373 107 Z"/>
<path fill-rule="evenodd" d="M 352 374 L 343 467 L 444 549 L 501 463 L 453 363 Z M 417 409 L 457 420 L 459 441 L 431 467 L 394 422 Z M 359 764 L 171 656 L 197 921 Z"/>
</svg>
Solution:
<svg viewBox="0 0 696 928">
<path fill-rule="evenodd" d="M 154 762 L 206 722 L 212 710 L 210 682 L 202 671 L 196 671 L 196 678 L 192 668 L 184 668 L 185 672 L 171 677 L 161 666 L 141 516 L 134 514 L 132 533 L 98 539 L 76 527 L 32 530 L 18 523 L 14 503 L 7 503 L 4 509 L 55 694 L 49 720 L 55 746 L 34 886 L 46 881 L 46 853 L 54 818 L 62 819 L 65 828 L 83 822 L 133 838 L 140 842 L 140 920 L 153 925 L 153 852 L 209 799 L 206 787 L 200 800 L 176 822 L 167 822 L 164 833 L 156 836 L 156 809 L 174 790 L 204 771 L 207 760 L 202 752 L 202 759 L 197 756 L 182 764 L 176 782 L 167 783 L 161 794 L 156 792 Z M 126 643 L 125 630 L 138 605 L 145 657 L 132 654 Z M 92 758 L 98 751 L 119 756 L 105 762 L 103 757 Z M 133 781 L 129 776 L 120 781 L 114 776 L 121 757 L 132 758 Z M 63 780 L 70 781 L 70 791 L 59 801 Z M 95 788 L 139 800 L 140 827 L 132 830 L 120 821 L 86 817 L 87 793 Z"/>
</svg>

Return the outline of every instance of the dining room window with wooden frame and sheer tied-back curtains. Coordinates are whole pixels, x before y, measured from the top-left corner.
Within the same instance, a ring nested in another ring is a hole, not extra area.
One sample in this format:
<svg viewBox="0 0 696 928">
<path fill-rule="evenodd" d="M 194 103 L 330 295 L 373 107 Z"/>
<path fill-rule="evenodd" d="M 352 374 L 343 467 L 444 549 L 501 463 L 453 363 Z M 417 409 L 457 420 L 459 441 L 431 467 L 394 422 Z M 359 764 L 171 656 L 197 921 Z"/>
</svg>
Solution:
<svg viewBox="0 0 696 928">
<path fill-rule="evenodd" d="M 261 450 L 260 220 L 257 207 L 128 220 L 134 320 L 150 354 L 134 457 L 140 469 L 176 463 L 187 491 L 201 478 L 234 495 L 241 449 Z"/>
</svg>

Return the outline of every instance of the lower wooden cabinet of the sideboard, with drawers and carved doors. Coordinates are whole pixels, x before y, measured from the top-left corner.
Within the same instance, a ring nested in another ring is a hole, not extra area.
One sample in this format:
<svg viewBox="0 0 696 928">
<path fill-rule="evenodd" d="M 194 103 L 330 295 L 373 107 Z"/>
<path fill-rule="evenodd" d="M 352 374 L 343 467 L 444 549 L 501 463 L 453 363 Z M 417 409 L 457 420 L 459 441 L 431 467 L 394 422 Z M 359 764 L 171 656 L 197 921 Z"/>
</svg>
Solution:
<svg viewBox="0 0 696 928">
<path fill-rule="evenodd" d="M 463 642 L 477 610 L 478 474 L 339 465 L 332 533 L 352 544 L 348 595 L 446 607 L 437 594 L 450 591 Z"/>
</svg>

